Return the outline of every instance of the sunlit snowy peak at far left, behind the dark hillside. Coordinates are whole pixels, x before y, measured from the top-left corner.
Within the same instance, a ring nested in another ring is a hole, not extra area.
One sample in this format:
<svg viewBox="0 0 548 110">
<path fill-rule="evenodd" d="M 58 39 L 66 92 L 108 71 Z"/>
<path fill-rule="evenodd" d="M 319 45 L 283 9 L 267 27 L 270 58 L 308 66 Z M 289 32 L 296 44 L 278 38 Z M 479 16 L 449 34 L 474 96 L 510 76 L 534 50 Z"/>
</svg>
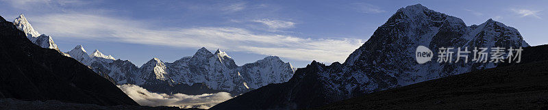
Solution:
<svg viewBox="0 0 548 110">
<path fill-rule="evenodd" d="M 29 21 L 23 14 L 19 15 L 15 20 L 13 21 L 13 24 L 17 27 L 17 29 L 23 31 L 26 33 L 27 38 L 34 44 L 46 48 L 46 49 L 55 49 L 59 51 L 59 48 L 57 47 L 57 44 L 53 42 L 53 39 L 51 39 L 51 36 L 47 36 L 45 34 L 40 34 L 38 31 L 34 30 L 32 28 L 32 25 L 30 25 Z"/>
</svg>

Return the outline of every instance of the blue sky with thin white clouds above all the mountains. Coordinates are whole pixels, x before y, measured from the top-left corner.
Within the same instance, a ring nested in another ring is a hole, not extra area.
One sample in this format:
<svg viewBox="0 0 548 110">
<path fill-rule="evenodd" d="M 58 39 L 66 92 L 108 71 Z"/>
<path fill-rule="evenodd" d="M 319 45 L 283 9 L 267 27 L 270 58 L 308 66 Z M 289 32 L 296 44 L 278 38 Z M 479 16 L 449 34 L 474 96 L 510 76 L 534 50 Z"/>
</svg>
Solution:
<svg viewBox="0 0 548 110">
<path fill-rule="evenodd" d="M 303 67 L 343 62 L 378 26 L 407 5 L 479 25 L 493 18 L 530 45 L 547 44 L 548 1 L 58 1 L 0 0 L 0 16 L 25 14 L 61 51 L 82 44 L 141 66 L 173 62 L 205 46 L 238 66 L 269 55 Z"/>
</svg>

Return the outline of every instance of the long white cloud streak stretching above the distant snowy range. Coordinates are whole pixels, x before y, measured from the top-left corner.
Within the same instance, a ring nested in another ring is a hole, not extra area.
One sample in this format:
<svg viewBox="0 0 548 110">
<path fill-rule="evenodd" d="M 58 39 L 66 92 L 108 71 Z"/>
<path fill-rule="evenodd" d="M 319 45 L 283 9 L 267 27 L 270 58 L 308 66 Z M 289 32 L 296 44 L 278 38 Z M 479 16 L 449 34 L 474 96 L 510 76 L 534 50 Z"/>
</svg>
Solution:
<svg viewBox="0 0 548 110">
<path fill-rule="evenodd" d="M 55 37 L 84 38 L 110 42 L 151 44 L 196 49 L 227 49 L 260 55 L 277 55 L 301 61 L 345 61 L 363 40 L 353 38 L 299 38 L 276 33 L 255 33 L 238 27 L 164 27 L 146 21 L 97 14 L 47 14 L 33 21 L 41 33 Z M 283 24 L 283 23 L 282 23 Z M 271 24 L 272 27 L 290 27 Z"/>
</svg>

